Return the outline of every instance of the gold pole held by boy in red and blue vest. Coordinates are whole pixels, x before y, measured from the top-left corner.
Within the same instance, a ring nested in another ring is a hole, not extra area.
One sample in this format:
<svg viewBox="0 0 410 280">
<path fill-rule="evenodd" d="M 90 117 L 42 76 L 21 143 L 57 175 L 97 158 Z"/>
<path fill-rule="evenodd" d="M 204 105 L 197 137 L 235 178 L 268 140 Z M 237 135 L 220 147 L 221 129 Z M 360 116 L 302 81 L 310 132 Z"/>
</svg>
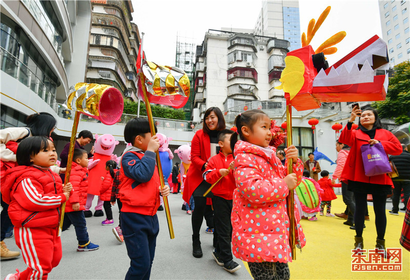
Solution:
<svg viewBox="0 0 410 280">
<path fill-rule="evenodd" d="M 148 100 L 148 95 L 147 95 L 147 90 L 145 88 L 145 75 L 144 73 L 140 73 L 140 79 L 141 79 L 141 88 L 142 92 L 144 93 L 144 99 L 145 99 L 145 107 L 147 108 L 147 116 L 148 116 L 148 122 L 150 123 L 150 129 L 151 129 L 151 135 L 154 136 L 155 133 L 155 126 L 154 126 L 154 119 L 152 117 L 152 111 L 151 111 L 151 105 Z M 165 183 L 163 181 L 163 174 L 162 174 L 162 168 L 161 168 L 161 161 L 159 159 L 159 152 L 156 152 L 156 159 L 157 159 L 157 168 L 158 168 L 158 173 L 159 173 L 159 179 L 161 182 L 161 189 L 165 188 Z M 172 227 L 172 219 L 171 219 L 171 213 L 170 213 L 170 207 L 168 204 L 168 197 L 163 196 L 163 205 L 165 207 L 165 213 L 167 215 L 167 221 L 168 221 L 168 229 L 170 231 L 170 237 L 171 239 L 175 238 L 174 235 L 174 228 Z"/>
</svg>

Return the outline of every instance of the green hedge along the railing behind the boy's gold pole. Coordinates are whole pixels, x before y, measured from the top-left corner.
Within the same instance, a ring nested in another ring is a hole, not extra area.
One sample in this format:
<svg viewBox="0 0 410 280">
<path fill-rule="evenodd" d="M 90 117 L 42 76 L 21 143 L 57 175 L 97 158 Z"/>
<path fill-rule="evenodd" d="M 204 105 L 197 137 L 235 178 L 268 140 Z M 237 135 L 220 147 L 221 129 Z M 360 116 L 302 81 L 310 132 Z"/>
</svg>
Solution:
<svg viewBox="0 0 410 280">
<path fill-rule="evenodd" d="M 185 119 L 185 112 L 182 109 L 174 109 L 172 107 L 164 107 L 160 105 L 151 105 L 153 117 L 170 118 L 170 119 Z M 124 99 L 124 114 L 136 115 L 138 113 L 138 103 Z M 141 102 L 139 107 L 139 114 L 141 116 L 147 115 L 145 103 Z"/>
</svg>

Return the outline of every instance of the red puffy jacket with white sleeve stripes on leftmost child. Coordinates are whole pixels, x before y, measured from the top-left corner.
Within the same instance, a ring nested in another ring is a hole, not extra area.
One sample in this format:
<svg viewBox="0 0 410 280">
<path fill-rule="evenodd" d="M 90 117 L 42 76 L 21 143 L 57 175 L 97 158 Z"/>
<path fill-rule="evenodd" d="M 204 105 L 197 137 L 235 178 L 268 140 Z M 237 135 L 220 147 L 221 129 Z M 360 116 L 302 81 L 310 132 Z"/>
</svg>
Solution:
<svg viewBox="0 0 410 280">
<path fill-rule="evenodd" d="M 56 173 L 46 168 L 17 166 L 6 171 L 1 191 L 15 227 L 58 226 L 60 206 L 66 196 Z"/>
</svg>

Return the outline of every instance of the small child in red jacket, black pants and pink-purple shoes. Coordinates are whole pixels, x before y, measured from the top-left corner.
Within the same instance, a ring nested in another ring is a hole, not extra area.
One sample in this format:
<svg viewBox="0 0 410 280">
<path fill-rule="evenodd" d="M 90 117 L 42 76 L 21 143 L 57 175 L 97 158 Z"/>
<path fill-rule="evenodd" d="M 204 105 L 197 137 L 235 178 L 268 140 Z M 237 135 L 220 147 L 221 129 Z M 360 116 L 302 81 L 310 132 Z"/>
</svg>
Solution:
<svg viewBox="0 0 410 280">
<path fill-rule="evenodd" d="M 111 226 L 114 225 L 114 219 L 112 218 L 112 210 L 111 210 L 111 192 L 112 192 L 112 184 L 113 179 L 115 177 L 117 168 L 117 163 L 114 161 L 107 161 L 106 162 L 106 170 L 107 174 L 105 177 L 101 177 L 103 180 L 103 184 L 101 185 L 99 199 L 104 201 L 104 211 L 106 211 L 107 218 L 101 222 L 103 226 Z"/>
</svg>

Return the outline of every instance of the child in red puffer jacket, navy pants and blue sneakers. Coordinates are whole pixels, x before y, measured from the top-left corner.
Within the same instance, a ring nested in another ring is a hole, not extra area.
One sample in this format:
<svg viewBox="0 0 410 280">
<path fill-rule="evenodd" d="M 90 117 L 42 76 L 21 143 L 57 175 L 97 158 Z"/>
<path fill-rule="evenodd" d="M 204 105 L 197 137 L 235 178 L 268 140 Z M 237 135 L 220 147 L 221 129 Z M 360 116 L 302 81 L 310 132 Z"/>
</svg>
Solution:
<svg viewBox="0 0 410 280">
<path fill-rule="evenodd" d="M 87 232 L 86 217 L 84 211 L 87 202 L 88 189 L 88 154 L 86 150 L 74 149 L 73 163 L 71 166 L 70 182 L 73 185 L 73 193 L 66 203 L 65 219 L 69 219 L 74 225 L 75 235 L 77 235 L 78 252 L 94 251 L 99 248 L 98 245 L 90 242 Z M 68 228 L 69 224 L 64 223 L 63 231 Z"/>
</svg>

